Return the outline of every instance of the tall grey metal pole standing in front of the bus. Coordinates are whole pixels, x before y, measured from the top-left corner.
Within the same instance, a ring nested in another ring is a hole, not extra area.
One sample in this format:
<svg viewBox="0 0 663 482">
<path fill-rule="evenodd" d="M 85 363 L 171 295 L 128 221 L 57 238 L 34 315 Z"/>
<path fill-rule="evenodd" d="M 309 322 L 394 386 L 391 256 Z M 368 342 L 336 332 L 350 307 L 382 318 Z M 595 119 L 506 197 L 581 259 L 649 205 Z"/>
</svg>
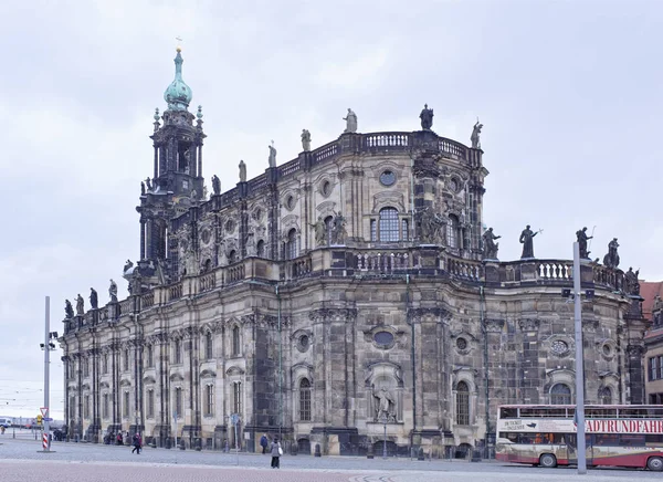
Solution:
<svg viewBox="0 0 663 482">
<path fill-rule="evenodd" d="M 585 444 L 585 358 L 582 354 L 582 293 L 580 287 L 580 244 L 573 243 L 573 302 L 576 321 L 576 425 L 578 473 L 587 473 Z"/>
</svg>

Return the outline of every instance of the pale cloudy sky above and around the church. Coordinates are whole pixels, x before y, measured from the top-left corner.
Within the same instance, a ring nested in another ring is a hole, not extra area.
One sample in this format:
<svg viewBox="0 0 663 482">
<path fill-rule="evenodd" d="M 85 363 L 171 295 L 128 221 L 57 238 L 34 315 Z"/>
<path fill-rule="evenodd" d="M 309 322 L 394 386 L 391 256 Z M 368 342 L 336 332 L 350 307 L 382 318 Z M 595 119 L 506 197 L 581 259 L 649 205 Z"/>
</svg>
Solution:
<svg viewBox="0 0 663 482">
<path fill-rule="evenodd" d="M 490 170 L 484 223 L 520 255 L 525 224 L 540 259 L 592 256 L 619 238 L 621 268 L 663 280 L 660 62 L 663 2 L 575 1 L 59 1 L 2 3 L 0 416 L 44 404 L 44 297 L 51 331 L 64 300 L 108 300 L 138 254 L 140 180 L 150 176 L 154 109 L 173 77 L 202 105 L 203 175 L 238 180 L 283 164 L 345 128 L 433 130 L 466 145 L 478 117 Z M 50 408 L 62 418 L 52 353 Z"/>
</svg>

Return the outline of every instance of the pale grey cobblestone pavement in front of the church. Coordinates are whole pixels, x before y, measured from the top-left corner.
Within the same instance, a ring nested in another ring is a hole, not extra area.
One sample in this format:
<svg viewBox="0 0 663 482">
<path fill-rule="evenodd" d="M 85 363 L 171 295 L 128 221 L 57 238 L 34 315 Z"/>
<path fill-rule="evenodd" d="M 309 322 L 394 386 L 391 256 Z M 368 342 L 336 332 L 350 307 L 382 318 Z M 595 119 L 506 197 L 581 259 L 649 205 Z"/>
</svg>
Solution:
<svg viewBox="0 0 663 482">
<path fill-rule="evenodd" d="M 0 436 L 0 480 L 2 482 L 124 481 L 187 482 L 472 482 L 568 481 L 619 482 L 620 480 L 661 480 L 661 473 L 633 470 L 590 470 L 577 475 L 576 469 L 541 469 L 505 465 L 497 462 L 411 461 L 409 459 L 359 457 L 285 455 L 281 469 L 272 470 L 270 457 L 191 450 L 144 449 L 131 454 L 130 447 L 53 442 L 52 453 L 42 453 L 41 443 L 28 432 Z"/>
</svg>

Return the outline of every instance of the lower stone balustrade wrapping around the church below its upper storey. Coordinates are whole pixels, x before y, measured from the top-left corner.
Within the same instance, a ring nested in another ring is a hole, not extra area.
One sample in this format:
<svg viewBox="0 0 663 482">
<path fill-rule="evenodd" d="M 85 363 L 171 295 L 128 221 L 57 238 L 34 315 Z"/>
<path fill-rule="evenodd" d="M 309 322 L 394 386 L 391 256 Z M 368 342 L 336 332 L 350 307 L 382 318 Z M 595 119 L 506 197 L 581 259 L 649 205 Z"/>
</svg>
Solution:
<svg viewBox="0 0 663 482">
<path fill-rule="evenodd" d="M 85 329 L 98 323 L 119 321 L 130 314 L 179 298 L 221 290 L 244 280 L 262 283 L 290 283 L 313 276 L 375 276 L 392 275 L 412 277 L 434 276 L 457 280 L 475 286 L 509 287 L 520 285 L 572 285 L 572 261 L 569 260 L 517 260 L 511 262 L 480 262 L 459 258 L 441 247 L 412 245 L 394 249 L 357 249 L 330 247 L 314 250 L 286 261 L 246 258 L 227 266 L 215 268 L 199 276 L 131 295 L 118 303 L 108 303 L 99 310 L 91 310 L 83 316 L 65 319 L 65 333 Z M 623 272 L 583 262 L 581 277 L 585 287 L 621 290 Z"/>
</svg>

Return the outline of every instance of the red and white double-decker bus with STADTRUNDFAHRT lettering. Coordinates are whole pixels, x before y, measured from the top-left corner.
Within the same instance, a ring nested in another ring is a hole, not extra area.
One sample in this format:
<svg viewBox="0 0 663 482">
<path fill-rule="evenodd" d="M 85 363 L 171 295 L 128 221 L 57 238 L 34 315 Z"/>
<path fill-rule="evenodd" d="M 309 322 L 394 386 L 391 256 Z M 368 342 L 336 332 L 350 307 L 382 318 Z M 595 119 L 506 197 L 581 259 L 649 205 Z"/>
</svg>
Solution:
<svg viewBox="0 0 663 482">
<path fill-rule="evenodd" d="M 552 468 L 576 464 L 572 405 L 505 405 L 497 415 L 495 457 Z M 587 405 L 587 465 L 663 470 L 663 406 Z"/>
</svg>

